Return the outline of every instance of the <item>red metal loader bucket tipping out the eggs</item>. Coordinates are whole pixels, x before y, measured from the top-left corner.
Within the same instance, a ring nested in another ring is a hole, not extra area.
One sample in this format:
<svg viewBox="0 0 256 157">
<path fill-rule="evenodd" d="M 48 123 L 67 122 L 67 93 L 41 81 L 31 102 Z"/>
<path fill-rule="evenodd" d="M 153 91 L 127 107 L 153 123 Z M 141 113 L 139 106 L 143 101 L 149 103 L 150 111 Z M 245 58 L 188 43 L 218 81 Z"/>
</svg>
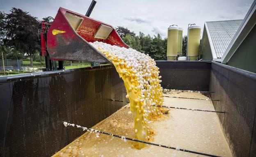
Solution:
<svg viewBox="0 0 256 157">
<path fill-rule="evenodd" d="M 129 48 L 111 25 L 59 8 L 47 33 L 51 60 L 110 62 L 88 43 L 94 41 Z"/>
</svg>

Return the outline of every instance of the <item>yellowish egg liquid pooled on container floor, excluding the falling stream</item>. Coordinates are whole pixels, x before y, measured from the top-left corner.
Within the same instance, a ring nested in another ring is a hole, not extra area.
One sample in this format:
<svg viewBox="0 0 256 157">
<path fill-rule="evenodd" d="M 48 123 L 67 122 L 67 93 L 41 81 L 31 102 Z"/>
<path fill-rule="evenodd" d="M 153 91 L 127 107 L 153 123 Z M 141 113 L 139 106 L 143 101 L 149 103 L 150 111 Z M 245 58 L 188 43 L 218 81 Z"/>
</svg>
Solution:
<svg viewBox="0 0 256 157">
<path fill-rule="evenodd" d="M 209 100 L 171 98 L 208 99 L 201 93 L 170 90 L 165 90 L 164 93 L 165 96 L 169 96 L 165 97 L 165 106 L 214 111 L 213 104 Z M 128 114 L 129 110 L 128 106 L 121 108 L 93 128 L 134 138 L 133 117 Z M 152 127 L 154 135 L 150 142 L 222 157 L 232 157 L 216 113 L 171 109 L 168 115 L 163 115 L 153 122 Z M 117 137 L 86 132 L 53 157 L 204 157 L 158 146 L 147 146 L 137 150 L 133 148 L 132 144 L 133 142 L 123 142 Z"/>
</svg>

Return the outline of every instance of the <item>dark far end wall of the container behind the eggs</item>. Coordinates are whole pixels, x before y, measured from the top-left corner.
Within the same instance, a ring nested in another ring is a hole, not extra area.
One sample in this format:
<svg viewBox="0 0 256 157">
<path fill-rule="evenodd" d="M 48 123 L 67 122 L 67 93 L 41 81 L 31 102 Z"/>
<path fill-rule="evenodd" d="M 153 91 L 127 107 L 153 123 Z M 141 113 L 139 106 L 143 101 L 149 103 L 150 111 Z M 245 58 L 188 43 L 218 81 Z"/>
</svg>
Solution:
<svg viewBox="0 0 256 157">
<path fill-rule="evenodd" d="M 208 91 L 211 62 L 156 61 L 166 89 Z"/>
</svg>

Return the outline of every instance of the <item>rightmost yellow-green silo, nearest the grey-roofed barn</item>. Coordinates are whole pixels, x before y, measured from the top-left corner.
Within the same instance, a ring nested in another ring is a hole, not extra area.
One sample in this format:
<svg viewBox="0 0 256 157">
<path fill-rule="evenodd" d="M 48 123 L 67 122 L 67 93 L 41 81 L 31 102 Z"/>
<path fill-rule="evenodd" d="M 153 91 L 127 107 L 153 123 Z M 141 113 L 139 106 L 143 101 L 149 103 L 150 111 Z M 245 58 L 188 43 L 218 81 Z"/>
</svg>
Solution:
<svg viewBox="0 0 256 157">
<path fill-rule="evenodd" d="M 192 25 L 188 28 L 187 56 L 189 60 L 197 60 L 200 47 L 201 27 Z"/>
</svg>

